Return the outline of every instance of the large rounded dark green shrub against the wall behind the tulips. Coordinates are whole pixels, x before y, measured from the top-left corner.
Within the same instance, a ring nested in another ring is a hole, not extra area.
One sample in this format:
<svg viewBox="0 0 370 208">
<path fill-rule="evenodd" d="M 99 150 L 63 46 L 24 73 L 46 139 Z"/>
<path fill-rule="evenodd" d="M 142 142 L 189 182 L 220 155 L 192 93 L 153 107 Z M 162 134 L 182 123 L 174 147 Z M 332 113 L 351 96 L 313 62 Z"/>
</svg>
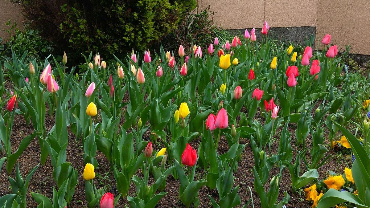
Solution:
<svg viewBox="0 0 370 208">
<path fill-rule="evenodd" d="M 62 50 L 122 54 L 147 49 L 181 23 L 196 0 L 13 0 Z M 69 50 L 68 48 L 69 47 Z M 72 52 L 73 52 L 72 51 Z M 77 52 L 76 52 L 77 53 Z"/>
</svg>

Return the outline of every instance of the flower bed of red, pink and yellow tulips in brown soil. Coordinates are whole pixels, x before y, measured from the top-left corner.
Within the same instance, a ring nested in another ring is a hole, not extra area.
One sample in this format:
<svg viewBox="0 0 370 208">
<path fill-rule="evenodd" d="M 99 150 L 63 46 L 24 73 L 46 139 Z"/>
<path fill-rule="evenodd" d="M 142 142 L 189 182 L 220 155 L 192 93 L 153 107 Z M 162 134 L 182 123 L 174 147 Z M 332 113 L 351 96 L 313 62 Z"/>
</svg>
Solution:
<svg viewBox="0 0 370 208">
<path fill-rule="evenodd" d="M 12 51 L 0 206 L 370 207 L 369 80 L 329 34 L 313 51 L 268 31 L 78 72 Z"/>
</svg>

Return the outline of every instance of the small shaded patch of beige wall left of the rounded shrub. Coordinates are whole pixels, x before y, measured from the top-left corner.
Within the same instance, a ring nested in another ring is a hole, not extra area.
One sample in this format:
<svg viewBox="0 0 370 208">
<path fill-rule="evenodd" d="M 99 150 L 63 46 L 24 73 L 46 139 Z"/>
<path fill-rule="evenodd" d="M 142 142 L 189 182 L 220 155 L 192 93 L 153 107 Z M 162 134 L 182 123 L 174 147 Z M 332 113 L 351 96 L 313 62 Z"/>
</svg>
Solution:
<svg viewBox="0 0 370 208">
<path fill-rule="evenodd" d="M 22 19 L 23 16 L 19 6 L 16 7 L 9 0 L 0 0 L 0 30 L 7 30 L 10 28 L 10 26 L 5 25 L 8 20 L 16 21 L 18 28 L 23 27 Z M 14 21 L 12 21 L 12 24 Z M 9 34 L 6 31 L 0 31 L 0 37 L 7 40 L 9 39 Z"/>
</svg>

